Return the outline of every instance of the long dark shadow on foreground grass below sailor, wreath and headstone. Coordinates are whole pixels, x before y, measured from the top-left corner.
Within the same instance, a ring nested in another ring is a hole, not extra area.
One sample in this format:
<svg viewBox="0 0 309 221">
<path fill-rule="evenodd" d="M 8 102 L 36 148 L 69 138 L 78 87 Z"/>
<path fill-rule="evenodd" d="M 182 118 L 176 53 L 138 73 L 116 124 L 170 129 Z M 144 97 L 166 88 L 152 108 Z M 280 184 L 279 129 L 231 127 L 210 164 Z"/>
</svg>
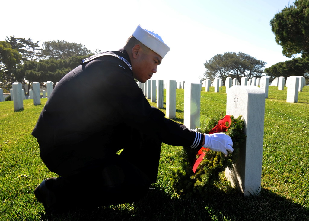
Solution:
<svg viewBox="0 0 309 221">
<path fill-rule="evenodd" d="M 184 209 L 185 208 L 185 209 Z M 79 210 L 41 220 L 308 220 L 309 210 L 262 188 L 259 196 L 214 190 L 207 199 L 171 197 L 163 189 L 150 190 L 142 200 L 121 206 Z"/>
</svg>

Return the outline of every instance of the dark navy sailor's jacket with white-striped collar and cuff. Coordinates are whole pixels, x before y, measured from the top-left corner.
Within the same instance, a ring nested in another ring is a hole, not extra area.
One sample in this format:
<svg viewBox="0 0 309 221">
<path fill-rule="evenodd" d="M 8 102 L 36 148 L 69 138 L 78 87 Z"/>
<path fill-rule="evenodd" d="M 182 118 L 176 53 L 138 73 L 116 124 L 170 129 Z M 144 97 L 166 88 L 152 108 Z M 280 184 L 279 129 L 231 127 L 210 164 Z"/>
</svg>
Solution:
<svg viewBox="0 0 309 221">
<path fill-rule="evenodd" d="M 58 145 L 85 139 L 116 152 L 132 130 L 158 136 L 174 146 L 200 147 L 203 135 L 165 118 L 151 107 L 133 78 L 124 49 L 92 56 L 64 76 L 53 89 L 32 135 L 42 155 Z M 134 137 L 134 139 L 137 139 Z M 87 151 L 87 150 L 86 150 Z"/>
</svg>

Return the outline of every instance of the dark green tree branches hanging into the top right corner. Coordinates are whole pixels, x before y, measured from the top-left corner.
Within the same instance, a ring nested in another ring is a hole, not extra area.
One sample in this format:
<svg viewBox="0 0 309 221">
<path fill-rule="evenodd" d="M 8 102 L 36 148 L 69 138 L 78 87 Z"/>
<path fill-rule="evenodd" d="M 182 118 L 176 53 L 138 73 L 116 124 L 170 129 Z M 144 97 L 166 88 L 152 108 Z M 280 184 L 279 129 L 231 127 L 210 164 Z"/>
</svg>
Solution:
<svg viewBox="0 0 309 221">
<path fill-rule="evenodd" d="M 296 0 L 270 20 L 276 42 L 282 54 L 291 58 L 302 53 L 309 57 L 309 0 Z"/>
</svg>

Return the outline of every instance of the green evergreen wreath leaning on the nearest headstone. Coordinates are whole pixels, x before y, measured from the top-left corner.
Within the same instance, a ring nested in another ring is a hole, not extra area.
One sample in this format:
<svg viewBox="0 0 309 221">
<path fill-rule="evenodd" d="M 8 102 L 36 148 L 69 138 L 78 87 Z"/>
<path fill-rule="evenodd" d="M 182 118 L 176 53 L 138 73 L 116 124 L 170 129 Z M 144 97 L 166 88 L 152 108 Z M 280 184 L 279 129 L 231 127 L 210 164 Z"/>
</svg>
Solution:
<svg viewBox="0 0 309 221">
<path fill-rule="evenodd" d="M 193 195 L 205 197 L 209 191 L 214 189 L 214 183 L 220 182 L 220 172 L 224 171 L 226 167 L 232 168 L 232 164 L 235 162 L 239 150 L 244 146 L 246 139 L 243 133 L 244 122 L 241 117 L 230 116 L 230 126 L 229 122 L 226 122 L 227 131 L 225 133 L 231 137 L 234 149 L 233 153 L 228 153 L 227 157 L 221 152 L 203 151 L 205 156 L 194 173 L 193 164 L 198 157 L 199 150 L 184 147 L 176 152 L 176 163 L 178 165 L 176 168 L 170 168 L 169 178 L 177 193 L 184 197 Z M 199 128 L 197 131 L 208 134 L 217 124 L 218 119 L 211 118 L 205 128 Z"/>
</svg>

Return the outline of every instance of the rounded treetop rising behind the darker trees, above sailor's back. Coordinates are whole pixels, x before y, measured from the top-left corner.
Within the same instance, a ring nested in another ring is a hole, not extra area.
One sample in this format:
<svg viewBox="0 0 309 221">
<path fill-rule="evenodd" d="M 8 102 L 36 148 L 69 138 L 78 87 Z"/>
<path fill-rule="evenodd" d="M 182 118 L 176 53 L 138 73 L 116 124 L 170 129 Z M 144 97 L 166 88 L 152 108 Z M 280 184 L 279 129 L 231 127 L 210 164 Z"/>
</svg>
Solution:
<svg viewBox="0 0 309 221">
<path fill-rule="evenodd" d="M 87 56 L 91 54 L 85 46 L 66 41 L 45 41 L 43 43 L 43 54 L 46 58 L 68 59 L 73 56 Z"/>
</svg>

